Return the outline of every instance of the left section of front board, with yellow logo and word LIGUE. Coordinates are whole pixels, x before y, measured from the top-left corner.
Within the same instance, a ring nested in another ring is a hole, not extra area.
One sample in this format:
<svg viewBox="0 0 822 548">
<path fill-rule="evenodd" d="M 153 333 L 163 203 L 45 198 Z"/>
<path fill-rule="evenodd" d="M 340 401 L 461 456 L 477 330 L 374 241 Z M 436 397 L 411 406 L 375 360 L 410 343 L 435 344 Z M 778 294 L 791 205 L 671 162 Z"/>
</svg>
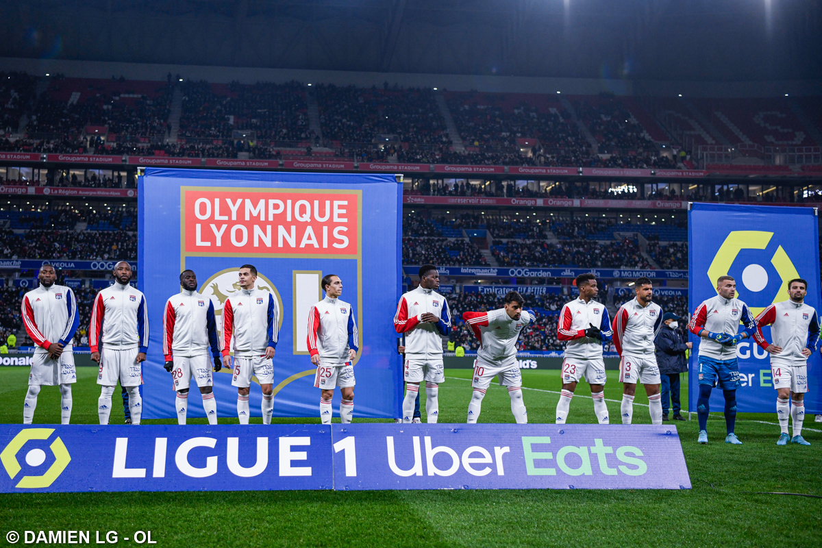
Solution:
<svg viewBox="0 0 822 548">
<path fill-rule="evenodd" d="M 0 491 L 331 489 L 330 426 L 0 427 Z"/>
</svg>

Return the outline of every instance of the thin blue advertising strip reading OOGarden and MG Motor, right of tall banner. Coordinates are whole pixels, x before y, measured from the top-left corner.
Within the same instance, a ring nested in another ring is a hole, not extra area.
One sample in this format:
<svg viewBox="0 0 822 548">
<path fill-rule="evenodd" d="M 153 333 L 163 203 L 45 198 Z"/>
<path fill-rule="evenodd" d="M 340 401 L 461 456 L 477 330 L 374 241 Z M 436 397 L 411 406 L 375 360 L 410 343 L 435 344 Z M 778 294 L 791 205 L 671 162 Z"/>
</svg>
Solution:
<svg viewBox="0 0 822 548">
<path fill-rule="evenodd" d="M 404 265 L 406 272 L 417 272 L 419 265 Z M 640 270 L 640 269 L 584 269 L 573 266 L 440 266 L 436 267 L 445 276 L 470 276 L 472 278 L 576 278 L 580 274 L 593 272 L 603 279 L 636 279 L 645 276 L 650 279 L 688 279 L 687 270 Z"/>
</svg>

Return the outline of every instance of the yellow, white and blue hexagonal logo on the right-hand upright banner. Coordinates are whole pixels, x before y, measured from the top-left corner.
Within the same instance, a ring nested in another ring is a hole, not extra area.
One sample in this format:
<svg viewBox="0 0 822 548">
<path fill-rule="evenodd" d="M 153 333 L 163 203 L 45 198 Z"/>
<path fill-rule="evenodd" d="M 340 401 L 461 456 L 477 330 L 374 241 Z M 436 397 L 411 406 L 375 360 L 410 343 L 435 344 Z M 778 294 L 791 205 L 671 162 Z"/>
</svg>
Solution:
<svg viewBox="0 0 822 548">
<path fill-rule="evenodd" d="M 800 278 L 783 246 L 773 249 L 773 237 L 771 232 L 734 230 L 719 246 L 708 269 L 711 287 L 726 274 L 737 279 L 737 292 L 753 315 L 787 300 L 788 281 Z"/>
</svg>

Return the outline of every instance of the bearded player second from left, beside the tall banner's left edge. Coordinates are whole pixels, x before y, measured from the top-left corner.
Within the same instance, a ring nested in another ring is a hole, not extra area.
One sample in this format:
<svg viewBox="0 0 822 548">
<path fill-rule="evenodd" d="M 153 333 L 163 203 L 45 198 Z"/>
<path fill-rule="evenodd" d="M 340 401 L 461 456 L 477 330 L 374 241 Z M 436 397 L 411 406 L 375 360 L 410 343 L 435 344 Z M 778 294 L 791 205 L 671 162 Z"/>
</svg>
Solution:
<svg viewBox="0 0 822 548">
<path fill-rule="evenodd" d="M 141 362 L 149 348 L 149 311 L 145 296 L 128 283 L 132 265 L 121 260 L 114 265 L 114 283 L 100 290 L 91 308 L 89 345 L 91 360 L 100 364 L 97 384 L 102 385 L 97 402 L 100 424 L 109 424 L 111 396 L 120 385 L 128 392 L 132 424 L 140 424 L 143 398 Z"/>
</svg>

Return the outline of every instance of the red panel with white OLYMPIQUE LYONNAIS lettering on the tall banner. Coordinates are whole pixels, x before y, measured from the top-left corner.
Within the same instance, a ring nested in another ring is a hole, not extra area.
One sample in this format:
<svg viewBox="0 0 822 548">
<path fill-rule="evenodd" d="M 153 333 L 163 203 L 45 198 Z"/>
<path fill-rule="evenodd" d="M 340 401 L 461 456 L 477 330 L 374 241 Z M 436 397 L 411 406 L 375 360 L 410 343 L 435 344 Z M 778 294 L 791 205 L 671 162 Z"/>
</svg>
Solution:
<svg viewBox="0 0 822 548">
<path fill-rule="evenodd" d="M 358 192 L 184 191 L 191 254 L 354 255 Z"/>
</svg>

